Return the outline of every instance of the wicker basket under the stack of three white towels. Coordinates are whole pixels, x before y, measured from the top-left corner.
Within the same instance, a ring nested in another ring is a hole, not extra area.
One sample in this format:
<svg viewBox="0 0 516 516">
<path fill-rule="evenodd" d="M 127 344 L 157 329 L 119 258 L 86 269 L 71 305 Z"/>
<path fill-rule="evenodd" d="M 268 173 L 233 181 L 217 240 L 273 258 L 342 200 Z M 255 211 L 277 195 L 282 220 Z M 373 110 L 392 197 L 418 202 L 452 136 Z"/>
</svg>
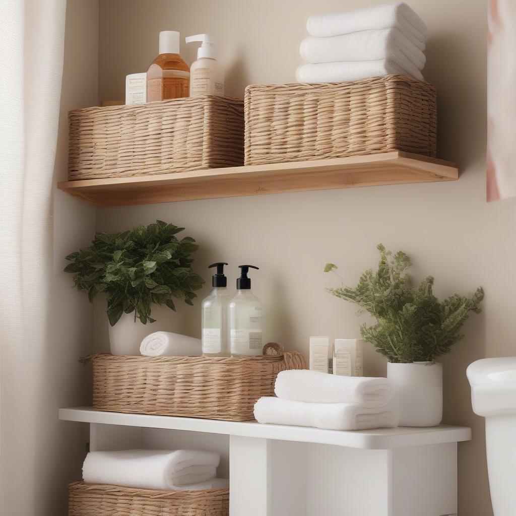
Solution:
<svg viewBox="0 0 516 516">
<path fill-rule="evenodd" d="M 437 91 L 402 75 L 246 88 L 246 165 L 376 154 L 436 156 Z"/>
</svg>

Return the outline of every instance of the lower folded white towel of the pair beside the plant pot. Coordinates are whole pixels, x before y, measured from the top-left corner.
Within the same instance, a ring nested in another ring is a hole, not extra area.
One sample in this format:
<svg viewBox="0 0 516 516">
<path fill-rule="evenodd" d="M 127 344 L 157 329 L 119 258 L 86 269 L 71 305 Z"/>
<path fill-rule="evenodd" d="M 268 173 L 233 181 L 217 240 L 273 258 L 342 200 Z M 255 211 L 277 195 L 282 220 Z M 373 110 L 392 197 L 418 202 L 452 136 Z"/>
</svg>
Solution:
<svg viewBox="0 0 516 516">
<path fill-rule="evenodd" d="M 399 423 L 399 415 L 390 405 L 366 409 L 352 403 L 304 403 L 272 397 L 256 401 L 254 417 L 259 423 L 325 430 L 395 428 Z"/>
</svg>

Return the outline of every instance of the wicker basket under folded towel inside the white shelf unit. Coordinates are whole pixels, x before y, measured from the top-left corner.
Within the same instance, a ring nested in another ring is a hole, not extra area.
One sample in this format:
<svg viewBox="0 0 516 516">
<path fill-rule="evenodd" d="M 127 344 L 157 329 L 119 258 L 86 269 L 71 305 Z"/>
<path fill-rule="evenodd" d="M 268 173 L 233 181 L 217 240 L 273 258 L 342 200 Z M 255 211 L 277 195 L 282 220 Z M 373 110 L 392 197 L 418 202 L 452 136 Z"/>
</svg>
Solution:
<svg viewBox="0 0 516 516">
<path fill-rule="evenodd" d="M 68 516 L 229 516 L 229 489 L 152 491 L 70 482 Z"/>
</svg>

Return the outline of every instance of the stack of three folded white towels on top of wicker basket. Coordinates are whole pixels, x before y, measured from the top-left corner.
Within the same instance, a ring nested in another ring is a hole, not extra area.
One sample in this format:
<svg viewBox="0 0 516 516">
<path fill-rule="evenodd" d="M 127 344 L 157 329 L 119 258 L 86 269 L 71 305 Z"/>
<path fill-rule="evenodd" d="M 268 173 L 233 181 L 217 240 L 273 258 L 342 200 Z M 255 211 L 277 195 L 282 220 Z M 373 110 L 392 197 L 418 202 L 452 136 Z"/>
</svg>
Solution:
<svg viewBox="0 0 516 516">
<path fill-rule="evenodd" d="M 381 75 L 411 75 L 421 70 L 427 28 L 405 3 L 349 12 L 316 14 L 308 19 L 310 36 L 300 45 L 308 63 L 296 72 L 300 83 L 340 83 Z"/>
</svg>

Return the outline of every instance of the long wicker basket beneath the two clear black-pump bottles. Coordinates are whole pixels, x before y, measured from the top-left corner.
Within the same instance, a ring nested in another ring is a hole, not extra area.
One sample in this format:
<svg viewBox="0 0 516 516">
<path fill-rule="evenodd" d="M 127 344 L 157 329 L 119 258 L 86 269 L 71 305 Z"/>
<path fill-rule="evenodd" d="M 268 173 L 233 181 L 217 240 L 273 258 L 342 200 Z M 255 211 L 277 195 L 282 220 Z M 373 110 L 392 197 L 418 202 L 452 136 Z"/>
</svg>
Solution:
<svg viewBox="0 0 516 516">
<path fill-rule="evenodd" d="M 257 399 L 274 394 L 280 371 L 307 368 L 298 351 L 238 358 L 98 354 L 93 357 L 93 407 L 248 421 L 254 419 Z"/>
</svg>

